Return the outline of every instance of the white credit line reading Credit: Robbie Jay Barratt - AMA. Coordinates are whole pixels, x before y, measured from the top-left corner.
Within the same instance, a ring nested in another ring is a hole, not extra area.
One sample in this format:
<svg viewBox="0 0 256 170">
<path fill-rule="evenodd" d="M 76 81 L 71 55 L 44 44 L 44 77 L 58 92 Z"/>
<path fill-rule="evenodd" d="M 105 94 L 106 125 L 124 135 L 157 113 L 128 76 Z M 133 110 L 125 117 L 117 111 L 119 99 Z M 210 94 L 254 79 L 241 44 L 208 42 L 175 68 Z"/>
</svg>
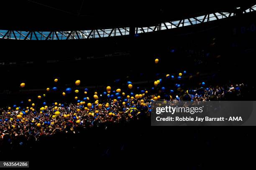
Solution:
<svg viewBox="0 0 256 170">
<path fill-rule="evenodd" d="M 156 117 L 156 121 L 243 121 L 242 117 Z"/>
</svg>

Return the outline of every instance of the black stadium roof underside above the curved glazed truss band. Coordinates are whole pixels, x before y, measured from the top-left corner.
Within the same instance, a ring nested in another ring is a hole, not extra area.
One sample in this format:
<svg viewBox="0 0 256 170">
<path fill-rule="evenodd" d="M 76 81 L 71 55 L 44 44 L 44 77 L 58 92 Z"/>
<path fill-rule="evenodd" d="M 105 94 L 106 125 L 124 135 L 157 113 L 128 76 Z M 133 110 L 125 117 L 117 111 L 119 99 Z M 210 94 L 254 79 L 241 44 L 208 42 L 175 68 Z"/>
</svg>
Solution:
<svg viewBox="0 0 256 170">
<path fill-rule="evenodd" d="M 1 30 L 85 30 L 118 26 L 144 27 L 166 20 L 218 11 L 235 12 L 250 2 L 131 2 L 87 0 L 1 1 Z"/>
</svg>

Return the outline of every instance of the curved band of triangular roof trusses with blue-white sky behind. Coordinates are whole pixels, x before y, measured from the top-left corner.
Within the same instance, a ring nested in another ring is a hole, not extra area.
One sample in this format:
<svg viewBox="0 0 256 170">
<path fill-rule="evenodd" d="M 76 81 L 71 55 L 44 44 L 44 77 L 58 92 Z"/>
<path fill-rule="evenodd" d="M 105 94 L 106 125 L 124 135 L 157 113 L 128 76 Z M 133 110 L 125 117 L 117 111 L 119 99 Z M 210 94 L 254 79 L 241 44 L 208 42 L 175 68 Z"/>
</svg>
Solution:
<svg viewBox="0 0 256 170">
<path fill-rule="evenodd" d="M 250 13 L 256 10 L 256 5 L 244 10 L 243 13 Z M 15 40 L 74 40 L 99 37 L 113 37 L 121 35 L 129 35 L 130 31 L 133 34 L 146 32 L 154 32 L 159 30 L 168 30 L 173 28 L 184 27 L 188 25 L 196 25 L 200 23 L 210 22 L 212 20 L 220 20 L 235 16 L 235 13 L 210 13 L 195 18 L 186 18 L 176 21 L 168 21 L 150 27 L 119 27 L 109 29 L 94 29 L 94 30 L 72 30 L 72 31 L 17 31 L 17 30 L 0 30 L 0 39 L 15 39 Z"/>
</svg>

